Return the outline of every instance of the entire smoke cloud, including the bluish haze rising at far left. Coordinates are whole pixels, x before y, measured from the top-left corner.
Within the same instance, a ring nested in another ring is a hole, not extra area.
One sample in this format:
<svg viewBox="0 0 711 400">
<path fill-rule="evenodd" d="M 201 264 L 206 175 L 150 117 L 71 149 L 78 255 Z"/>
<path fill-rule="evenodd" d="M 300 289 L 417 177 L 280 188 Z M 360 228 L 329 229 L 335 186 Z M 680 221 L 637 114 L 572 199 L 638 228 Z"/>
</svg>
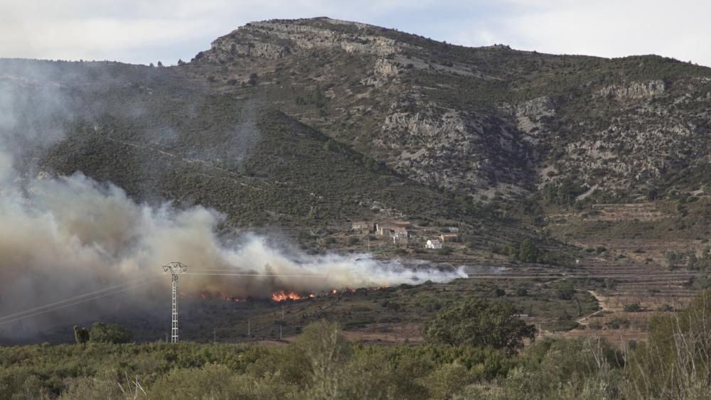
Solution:
<svg viewBox="0 0 711 400">
<path fill-rule="evenodd" d="M 4 315 L 117 283 L 156 279 L 151 286 L 71 310 L 85 318 L 126 301 L 148 308 L 169 293 L 170 279 L 159 275 L 169 261 L 181 261 L 194 273 L 181 279 L 181 291 L 238 298 L 466 276 L 365 255 L 309 256 L 250 235 L 228 245 L 216 233 L 223 215 L 214 210 L 177 210 L 169 202 L 151 207 L 80 172 L 59 178 L 37 173 L 28 168 L 28 155 L 60 141 L 58 121 L 80 114 L 64 90 L 75 82 L 48 66 L 37 68 L 0 68 L 0 322 Z M 48 313 L 23 323 L 31 330 L 61 317 Z M 0 325 L 0 332 L 9 328 Z"/>
</svg>

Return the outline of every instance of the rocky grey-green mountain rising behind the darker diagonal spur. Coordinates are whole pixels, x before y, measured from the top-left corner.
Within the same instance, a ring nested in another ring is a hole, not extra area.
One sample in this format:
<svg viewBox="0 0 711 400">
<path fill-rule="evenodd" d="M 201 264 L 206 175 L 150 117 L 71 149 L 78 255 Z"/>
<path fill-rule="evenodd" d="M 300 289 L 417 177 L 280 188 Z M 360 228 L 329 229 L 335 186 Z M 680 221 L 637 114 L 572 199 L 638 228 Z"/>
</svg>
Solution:
<svg viewBox="0 0 711 400">
<path fill-rule="evenodd" d="M 711 70 L 658 56 L 464 48 L 314 18 L 248 24 L 186 68 L 228 91 L 251 76 L 289 114 L 449 190 L 571 180 L 629 200 L 707 183 Z"/>
</svg>

